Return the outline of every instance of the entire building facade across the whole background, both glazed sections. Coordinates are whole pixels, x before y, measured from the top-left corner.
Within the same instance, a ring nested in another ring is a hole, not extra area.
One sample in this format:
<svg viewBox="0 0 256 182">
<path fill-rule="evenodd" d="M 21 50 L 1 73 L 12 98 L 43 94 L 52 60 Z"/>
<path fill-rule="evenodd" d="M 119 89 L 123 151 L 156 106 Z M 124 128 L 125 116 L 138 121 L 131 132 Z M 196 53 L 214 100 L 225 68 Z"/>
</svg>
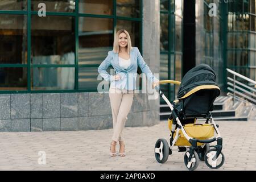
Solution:
<svg viewBox="0 0 256 182">
<path fill-rule="evenodd" d="M 212 3 L 216 16 L 209 15 Z M 121 28 L 130 32 L 132 46 L 139 48 L 160 80 L 181 81 L 200 63 L 214 69 L 224 91 L 225 68 L 255 80 L 255 3 L 1 1 L 0 131 L 111 128 L 109 96 L 97 92 L 102 82 L 97 68 L 112 49 L 114 32 Z M 177 86 L 161 88 L 175 100 Z M 149 95 L 135 94 L 126 126 L 159 123 L 159 104 L 164 102 L 148 100 Z"/>
</svg>

